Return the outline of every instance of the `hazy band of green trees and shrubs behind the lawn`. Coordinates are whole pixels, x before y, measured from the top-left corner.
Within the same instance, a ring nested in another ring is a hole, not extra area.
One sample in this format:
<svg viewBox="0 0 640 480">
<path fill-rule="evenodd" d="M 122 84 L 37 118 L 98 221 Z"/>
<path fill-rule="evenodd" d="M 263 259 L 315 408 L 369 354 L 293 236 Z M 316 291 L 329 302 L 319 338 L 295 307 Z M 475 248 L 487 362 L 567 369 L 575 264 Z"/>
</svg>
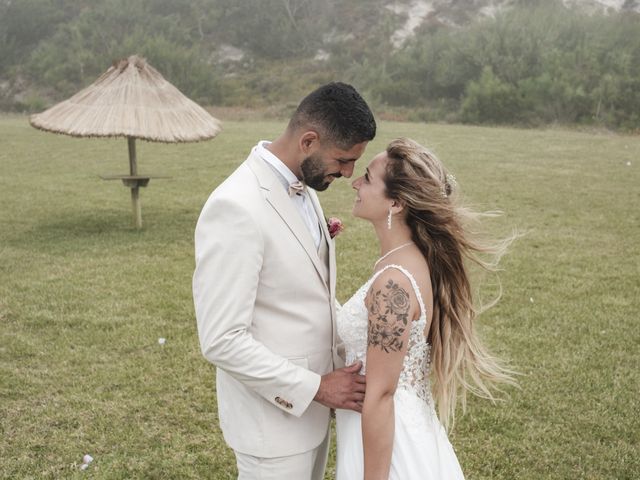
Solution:
<svg viewBox="0 0 640 480">
<path fill-rule="evenodd" d="M 0 0 L 0 109 L 41 110 L 138 53 L 205 105 L 286 106 L 340 79 L 414 120 L 640 128 L 633 11 L 516 1 L 453 26 L 427 18 L 398 47 L 406 18 L 386 3 Z"/>
</svg>

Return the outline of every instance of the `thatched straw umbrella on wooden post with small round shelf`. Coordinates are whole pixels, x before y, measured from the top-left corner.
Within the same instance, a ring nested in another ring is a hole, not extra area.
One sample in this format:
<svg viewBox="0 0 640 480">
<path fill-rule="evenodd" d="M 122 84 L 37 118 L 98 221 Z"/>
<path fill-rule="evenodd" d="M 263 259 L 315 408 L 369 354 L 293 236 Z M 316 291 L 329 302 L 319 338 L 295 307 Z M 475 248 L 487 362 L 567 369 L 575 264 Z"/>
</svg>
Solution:
<svg viewBox="0 0 640 480">
<path fill-rule="evenodd" d="M 196 142 L 213 138 L 220 122 L 166 81 L 143 58 L 115 62 L 94 83 L 50 109 L 32 115 L 41 130 L 74 137 L 126 137 L 129 175 L 111 175 L 131 188 L 135 224 L 142 227 L 139 188 L 150 176 L 139 175 L 136 138 L 153 142 Z"/>
</svg>

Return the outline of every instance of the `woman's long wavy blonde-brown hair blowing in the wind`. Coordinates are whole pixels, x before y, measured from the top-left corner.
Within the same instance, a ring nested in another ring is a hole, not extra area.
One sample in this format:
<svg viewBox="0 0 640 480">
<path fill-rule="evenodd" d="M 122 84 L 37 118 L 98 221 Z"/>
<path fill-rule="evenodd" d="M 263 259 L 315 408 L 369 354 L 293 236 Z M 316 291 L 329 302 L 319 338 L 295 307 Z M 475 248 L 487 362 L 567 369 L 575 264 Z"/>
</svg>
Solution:
<svg viewBox="0 0 640 480">
<path fill-rule="evenodd" d="M 472 261 L 495 272 L 515 235 L 494 243 L 478 238 L 472 227 L 496 212 L 479 213 L 459 205 L 454 177 L 422 145 L 399 138 L 388 145 L 387 156 L 386 194 L 404 205 L 413 241 L 429 265 L 432 389 L 440 420 L 448 428 L 458 400 L 464 411 L 467 392 L 494 401 L 492 387 L 515 383 L 514 372 L 489 354 L 474 330 L 476 317 L 499 296 L 484 307 L 475 305 L 467 268 Z M 489 260 L 482 258 L 487 256 Z"/>
</svg>

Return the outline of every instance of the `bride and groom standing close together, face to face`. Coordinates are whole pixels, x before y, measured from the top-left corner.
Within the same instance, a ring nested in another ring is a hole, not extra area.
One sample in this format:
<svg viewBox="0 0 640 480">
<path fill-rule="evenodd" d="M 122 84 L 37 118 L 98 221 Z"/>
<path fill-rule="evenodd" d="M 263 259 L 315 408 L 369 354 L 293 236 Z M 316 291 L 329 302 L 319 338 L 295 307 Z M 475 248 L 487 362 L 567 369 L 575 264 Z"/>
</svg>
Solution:
<svg viewBox="0 0 640 480">
<path fill-rule="evenodd" d="M 499 255 L 467 227 L 452 175 L 392 141 L 352 182 L 381 256 L 338 307 L 334 241 L 316 191 L 376 133 L 346 84 L 309 94 L 206 202 L 195 233 L 200 345 L 239 479 L 320 480 L 336 413 L 337 479 L 461 479 L 444 426 L 472 389 L 510 381 L 478 341 L 465 266 Z M 369 269 L 367 265 L 362 268 Z"/>
</svg>

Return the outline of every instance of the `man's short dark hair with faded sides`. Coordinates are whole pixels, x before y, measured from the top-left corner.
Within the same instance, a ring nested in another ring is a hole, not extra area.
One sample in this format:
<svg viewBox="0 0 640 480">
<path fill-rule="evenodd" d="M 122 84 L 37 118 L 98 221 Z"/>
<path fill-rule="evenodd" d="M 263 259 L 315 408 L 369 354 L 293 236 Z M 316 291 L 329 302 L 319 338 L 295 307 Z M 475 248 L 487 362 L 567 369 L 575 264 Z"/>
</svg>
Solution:
<svg viewBox="0 0 640 480">
<path fill-rule="evenodd" d="M 290 130 L 312 128 L 322 143 L 348 150 L 376 136 L 369 105 L 351 85 L 332 82 L 307 95 L 289 121 Z"/>
</svg>

